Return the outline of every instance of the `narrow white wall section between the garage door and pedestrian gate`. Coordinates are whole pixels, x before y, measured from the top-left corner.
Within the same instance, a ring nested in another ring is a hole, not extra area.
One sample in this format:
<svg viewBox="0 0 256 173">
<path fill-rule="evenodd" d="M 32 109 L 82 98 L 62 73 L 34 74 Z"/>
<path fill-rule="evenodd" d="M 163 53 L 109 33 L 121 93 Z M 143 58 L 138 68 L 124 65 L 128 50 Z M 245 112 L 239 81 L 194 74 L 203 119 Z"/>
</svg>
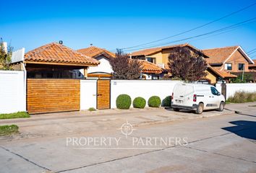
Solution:
<svg viewBox="0 0 256 173">
<path fill-rule="evenodd" d="M 80 110 L 96 109 L 97 80 L 80 80 Z"/>
</svg>

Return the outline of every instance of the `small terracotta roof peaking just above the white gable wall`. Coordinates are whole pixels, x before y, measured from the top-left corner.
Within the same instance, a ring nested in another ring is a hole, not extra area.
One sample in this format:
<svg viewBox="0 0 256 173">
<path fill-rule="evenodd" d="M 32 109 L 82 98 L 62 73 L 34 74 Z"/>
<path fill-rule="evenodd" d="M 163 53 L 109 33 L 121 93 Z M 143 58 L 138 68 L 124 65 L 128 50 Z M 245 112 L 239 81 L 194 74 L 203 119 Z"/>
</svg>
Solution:
<svg viewBox="0 0 256 173">
<path fill-rule="evenodd" d="M 97 56 L 101 56 L 101 55 L 104 55 L 107 58 L 116 56 L 114 53 L 111 53 L 110 51 L 108 51 L 106 49 L 98 48 L 95 46 L 90 46 L 89 48 L 79 49 L 77 51 L 84 54 L 85 56 L 90 56 L 92 58 L 96 58 Z"/>
</svg>

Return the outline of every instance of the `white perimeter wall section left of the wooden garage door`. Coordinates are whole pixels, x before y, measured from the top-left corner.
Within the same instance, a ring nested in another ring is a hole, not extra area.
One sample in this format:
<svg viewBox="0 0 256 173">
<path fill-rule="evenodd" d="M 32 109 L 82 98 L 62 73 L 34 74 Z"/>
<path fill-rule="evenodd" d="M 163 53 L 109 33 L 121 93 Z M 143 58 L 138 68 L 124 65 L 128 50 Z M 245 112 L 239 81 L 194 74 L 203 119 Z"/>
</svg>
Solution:
<svg viewBox="0 0 256 173">
<path fill-rule="evenodd" d="M 25 71 L 0 71 L 0 113 L 26 111 Z"/>
</svg>

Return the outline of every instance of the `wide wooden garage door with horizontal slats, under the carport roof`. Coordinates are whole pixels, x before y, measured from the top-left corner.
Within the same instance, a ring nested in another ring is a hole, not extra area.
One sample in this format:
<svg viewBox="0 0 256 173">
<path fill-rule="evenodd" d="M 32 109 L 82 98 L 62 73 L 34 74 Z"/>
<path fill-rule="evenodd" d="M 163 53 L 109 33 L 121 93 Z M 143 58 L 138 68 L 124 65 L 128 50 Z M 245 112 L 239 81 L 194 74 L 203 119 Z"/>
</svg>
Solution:
<svg viewBox="0 0 256 173">
<path fill-rule="evenodd" d="M 27 112 L 80 110 L 80 80 L 27 79 Z"/>
</svg>

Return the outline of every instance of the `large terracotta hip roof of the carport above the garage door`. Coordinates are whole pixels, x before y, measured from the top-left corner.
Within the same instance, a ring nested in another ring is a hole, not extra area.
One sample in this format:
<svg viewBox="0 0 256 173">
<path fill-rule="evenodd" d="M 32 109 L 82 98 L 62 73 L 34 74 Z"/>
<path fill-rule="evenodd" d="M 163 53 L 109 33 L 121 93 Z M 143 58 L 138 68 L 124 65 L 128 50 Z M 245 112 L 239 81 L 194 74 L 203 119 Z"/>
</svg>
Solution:
<svg viewBox="0 0 256 173">
<path fill-rule="evenodd" d="M 59 43 L 50 43 L 25 53 L 25 61 L 98 65 L 99 61 Z"/>
</svg>

